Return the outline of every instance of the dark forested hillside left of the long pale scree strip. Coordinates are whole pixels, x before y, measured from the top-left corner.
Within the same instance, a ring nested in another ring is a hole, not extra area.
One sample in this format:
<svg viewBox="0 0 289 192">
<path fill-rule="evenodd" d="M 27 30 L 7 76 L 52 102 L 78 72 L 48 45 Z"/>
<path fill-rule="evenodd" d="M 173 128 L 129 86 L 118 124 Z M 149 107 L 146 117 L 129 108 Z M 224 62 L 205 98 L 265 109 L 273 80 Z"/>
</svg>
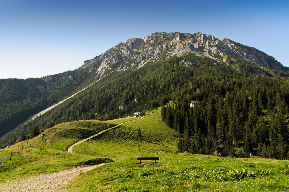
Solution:
<svg viewBox="0 0 289 192">
<path fill-rule="evenodd" d="M 42 78 L 0 79 L 0 137 L 39 111 L 88 86 L 96 74 L 66 71 Z"/>
</svg>

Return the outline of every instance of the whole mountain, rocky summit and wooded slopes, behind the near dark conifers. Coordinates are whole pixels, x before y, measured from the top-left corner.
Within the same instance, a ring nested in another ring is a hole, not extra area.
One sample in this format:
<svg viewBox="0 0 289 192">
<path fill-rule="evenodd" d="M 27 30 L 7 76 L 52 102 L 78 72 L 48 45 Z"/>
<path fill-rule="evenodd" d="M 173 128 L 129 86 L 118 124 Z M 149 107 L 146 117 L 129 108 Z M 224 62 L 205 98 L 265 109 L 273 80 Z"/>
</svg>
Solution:
<svg viewBox="0 0 289 192">
<path fill-rule="evenodd" d="M 129 39 L 73 71 L 27 80 L 0 80 L 1 135 L 99 80 L 3 136 L 0 147 L 14 143 L 22 132 L 28 135 L 34 124 L 44 130 L 68 121 L 125 117 L 169 100 L 203 100 L 213 93 L 225 97 L 236 83 L 241 87 L 243 81 L 261 84 L 258 78 L 265 76 L 269 79 L 263 78 L 262 82 L 274 81 L 283 87 L 283 92 L 277 92 L 288 103 L 283 81 L 288 80 L 288 68 L 253 47 L 201 33 L 158 32 L 143 39 Z M 264 90 L 261 93 L 266 94 Z"/>
</svg>

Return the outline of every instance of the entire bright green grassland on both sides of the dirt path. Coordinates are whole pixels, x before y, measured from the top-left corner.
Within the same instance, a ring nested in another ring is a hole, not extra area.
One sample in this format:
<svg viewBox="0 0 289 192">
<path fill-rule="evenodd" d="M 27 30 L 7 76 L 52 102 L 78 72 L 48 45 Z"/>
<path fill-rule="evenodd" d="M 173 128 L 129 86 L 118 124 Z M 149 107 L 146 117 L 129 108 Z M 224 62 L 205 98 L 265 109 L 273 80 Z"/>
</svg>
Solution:
<svg viewBox="0 0 289 192">
<path fill-rule="evenodd" d="M 20 150 L 16 143 L 0 150 L 5 167 L 1 181 L 17 181 L 38 174 L 68 170 L 91 162 L 115 162 L 80 174 L 64 191 L 288 191 L 289 163 L 262 158 L 231 158 L 176 153 L 177 138 L 160 110 L 138 118 L 84 120 L 55 125 L 28 140 L 39 148 Z M 69 145 L 127 122 L 64 152 Z M 142 139 L 136 135 L 140 128 Z M 28 145 L 29 147 L 29 145 Z M 43 148 L 40 148 L 43 147 Z M 12 161 L 8 160 L 13 149 Z M 158 156 L 156 165 L 136 165 L 138 156 Z M 108 158 L 104 158 L 108 157 Z"/>
</svg>

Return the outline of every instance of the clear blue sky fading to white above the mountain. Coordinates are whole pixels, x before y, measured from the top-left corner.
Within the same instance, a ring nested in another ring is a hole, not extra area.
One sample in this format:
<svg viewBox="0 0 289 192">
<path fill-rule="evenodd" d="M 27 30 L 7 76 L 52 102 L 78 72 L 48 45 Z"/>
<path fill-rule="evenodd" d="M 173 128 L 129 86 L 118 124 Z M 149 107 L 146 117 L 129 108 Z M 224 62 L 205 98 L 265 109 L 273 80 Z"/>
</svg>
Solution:
<svg viewBox="0 0 289 192">
<path fill-rule="evenodd" d="M 158 31 L 229 38 L 289 66 L 288 1 L 0 0 L 0 79 L 74 70 Z"/>
</svg>

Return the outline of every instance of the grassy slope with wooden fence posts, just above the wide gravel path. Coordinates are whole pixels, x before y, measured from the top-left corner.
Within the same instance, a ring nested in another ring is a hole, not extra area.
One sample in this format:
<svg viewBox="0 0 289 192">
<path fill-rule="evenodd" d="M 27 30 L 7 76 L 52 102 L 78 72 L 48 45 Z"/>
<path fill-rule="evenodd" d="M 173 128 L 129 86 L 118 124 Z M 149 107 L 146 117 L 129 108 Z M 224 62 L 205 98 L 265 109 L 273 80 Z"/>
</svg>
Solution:
<svg viewBox="0 0 289 192">
<path fill-rule="evenodd" d="M 18 154 L 16 154 L 17 150 L 13 150 L 10 161 L 10 152 L 10 148 L 0 150 L 0 155 L 4 158 L 4 167 L 2 165 L 0 167 L 0 183 L 72 169 L 75 166 L 86 165 L 88 160 L 95 159 L 93 156 L 33 148 L 19 150 Z"/>
</svg>

